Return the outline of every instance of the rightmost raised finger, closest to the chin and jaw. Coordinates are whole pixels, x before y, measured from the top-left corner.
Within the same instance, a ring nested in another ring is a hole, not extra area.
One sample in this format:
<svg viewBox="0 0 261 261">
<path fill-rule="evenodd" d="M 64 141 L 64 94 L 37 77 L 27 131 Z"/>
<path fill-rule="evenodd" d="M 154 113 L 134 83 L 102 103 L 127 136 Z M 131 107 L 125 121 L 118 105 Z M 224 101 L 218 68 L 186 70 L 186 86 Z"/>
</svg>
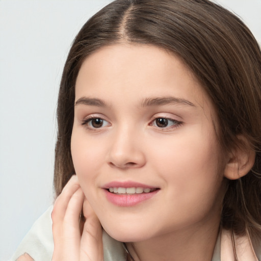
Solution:
<svg viewBox="0 0 261 261">
<path fill-rule="evenodd" d="M 102 261 L 102 228 L 87 199 L 84 201 L 83 212 L 86 221 L 81 239 L 80 260 Z"/>
</svg>

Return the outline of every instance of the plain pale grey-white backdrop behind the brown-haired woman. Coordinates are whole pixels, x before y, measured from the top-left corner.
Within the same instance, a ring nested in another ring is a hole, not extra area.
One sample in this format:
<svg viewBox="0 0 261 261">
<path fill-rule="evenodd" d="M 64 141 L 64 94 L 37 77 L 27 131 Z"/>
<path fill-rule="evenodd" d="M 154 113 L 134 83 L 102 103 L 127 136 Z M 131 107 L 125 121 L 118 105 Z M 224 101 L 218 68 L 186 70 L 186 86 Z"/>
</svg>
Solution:
<svg viewBox="0 0 261 261">
<path fill-rule="evenodd" d="M 56 105 L 76 33 L 110 0 L 0 0 L 0 260 L 53 203 Z M 261 0 L 220 0 L 261 42 Z"/>
</svg>

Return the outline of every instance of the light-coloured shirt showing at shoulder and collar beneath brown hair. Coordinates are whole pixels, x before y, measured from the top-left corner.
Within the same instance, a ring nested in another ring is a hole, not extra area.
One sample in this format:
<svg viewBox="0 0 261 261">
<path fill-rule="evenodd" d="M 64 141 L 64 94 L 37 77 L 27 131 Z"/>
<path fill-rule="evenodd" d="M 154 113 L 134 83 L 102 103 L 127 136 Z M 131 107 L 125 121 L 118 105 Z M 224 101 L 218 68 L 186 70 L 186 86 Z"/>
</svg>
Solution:
<svg viewBox="0 0 261 261">
<path fill-rule="evenodd" d="M 35 261 L 51 261 L 54 251 L 51 211 L 53 206 L 34 223 L 24 237 L 10 261 L 15 261 L 25 252 Z M 102 232 L 104 261 L 126 261 L 126 252 L 123 243 L 111 238 L 105 231 Z M 261 247 L 255 250 L 249 237 L 235 237 L 236 251 L 239 261 L 261 261 Z M 257 258 L 258 256 L 258 258 Z M 231 233 L 222 230 L 218 236 L 212 261 L 234 261 Z"/>
</svg>

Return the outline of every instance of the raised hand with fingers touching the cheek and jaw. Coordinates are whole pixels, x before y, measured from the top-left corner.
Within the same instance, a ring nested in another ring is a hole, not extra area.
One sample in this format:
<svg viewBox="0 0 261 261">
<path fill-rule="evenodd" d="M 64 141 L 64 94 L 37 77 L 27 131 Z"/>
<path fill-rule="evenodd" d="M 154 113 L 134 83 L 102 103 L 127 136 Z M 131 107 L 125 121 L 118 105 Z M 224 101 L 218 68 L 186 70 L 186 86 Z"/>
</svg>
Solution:
<svg viewBox="0 0 261 261">
<path fill-rule="evenodd" d="M 80 222 L 82 210 L 85 221 Z M 56 199 L 51 218 L 55 244 L 52 261 L 103 261 L 101 225 L 76 175 Z"/>
</svg>

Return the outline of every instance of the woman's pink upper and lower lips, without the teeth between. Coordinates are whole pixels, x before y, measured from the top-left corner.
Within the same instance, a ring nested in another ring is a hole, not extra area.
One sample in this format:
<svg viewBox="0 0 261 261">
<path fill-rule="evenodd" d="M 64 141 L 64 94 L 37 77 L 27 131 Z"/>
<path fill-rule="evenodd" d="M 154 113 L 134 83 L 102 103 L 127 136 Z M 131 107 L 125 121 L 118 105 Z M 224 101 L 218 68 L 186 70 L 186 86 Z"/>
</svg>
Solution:
<svg viewBox="0 0 261 261">
<path fill-rule="evenodd" d="M 109 192 L 109 188 L 149 188 L 156 189 L 156 187 L 151 187 L 145 184 L 141 184 L 138 182 L 128 181 L 128 182 L 119 182 L 113 181 L 106 184 L 103 189 L 106 194 L 106 198 L 113 204 L 117 206 L 134 206 L 140 202 L 143 202 L 147 199 L 152 198 L 156 193 L 159 192 L 159 189 L 151 191 L 149 193 L 141 193 L 141 194 L 114 194 Z"/>
</svg>

